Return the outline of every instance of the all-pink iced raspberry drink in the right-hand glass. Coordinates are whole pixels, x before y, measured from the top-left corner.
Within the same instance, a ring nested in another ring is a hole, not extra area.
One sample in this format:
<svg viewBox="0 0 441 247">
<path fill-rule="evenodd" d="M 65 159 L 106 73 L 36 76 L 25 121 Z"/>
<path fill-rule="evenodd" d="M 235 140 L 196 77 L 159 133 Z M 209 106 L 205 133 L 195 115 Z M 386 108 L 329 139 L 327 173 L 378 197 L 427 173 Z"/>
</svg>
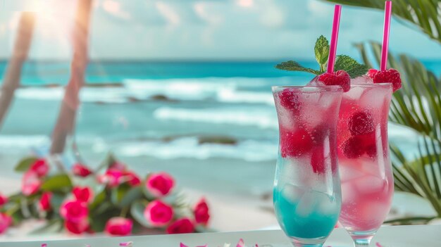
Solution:
<svg viewBox="0 0 441 247">
<path fill-rule="evenodd" d="M 387 140 L 392 84 L 353 84 L 343 94 L 337 126 L 342 212 L 354 238 L 372 236 L 392 203 L 394 182 Z"/>
</svg>

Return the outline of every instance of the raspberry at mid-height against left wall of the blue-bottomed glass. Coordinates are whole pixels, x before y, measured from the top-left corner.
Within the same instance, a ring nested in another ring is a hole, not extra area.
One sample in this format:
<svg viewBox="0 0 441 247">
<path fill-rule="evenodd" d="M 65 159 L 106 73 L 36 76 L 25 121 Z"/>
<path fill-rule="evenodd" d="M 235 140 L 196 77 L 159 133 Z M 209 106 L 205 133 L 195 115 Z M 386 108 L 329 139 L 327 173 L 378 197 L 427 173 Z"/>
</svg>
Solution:
<svg viewBox="0 0 441 247">
<path fill-rule="evenodd" d="M 297 157 L 311 150 L 313 146 L 311 135 L 304 129 L 295 132 L 280 131 L 280 153 L 283 158 Z"/>
</svg>

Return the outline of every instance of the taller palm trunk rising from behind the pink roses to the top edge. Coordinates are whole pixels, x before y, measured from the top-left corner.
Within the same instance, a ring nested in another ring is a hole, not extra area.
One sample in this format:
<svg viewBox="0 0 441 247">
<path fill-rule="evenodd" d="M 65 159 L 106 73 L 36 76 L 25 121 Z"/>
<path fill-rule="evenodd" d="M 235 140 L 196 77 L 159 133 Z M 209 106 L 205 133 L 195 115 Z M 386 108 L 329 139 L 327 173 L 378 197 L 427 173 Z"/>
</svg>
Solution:
<svg viewBox="0 0 441 247">
<path fill-rule="evenodd" d="M 52 133 L 51 154 L 63 153 L 66 137 L 73 132 L 75 126 L 77 108 L 80 105 L 78 94 L 85 84 L 91 10 L 92 0 L 78 0 L 73 30 L 73 60 L 70 64 L 70 80 L 66 86 L 58 120 Z"/>
</svg>

